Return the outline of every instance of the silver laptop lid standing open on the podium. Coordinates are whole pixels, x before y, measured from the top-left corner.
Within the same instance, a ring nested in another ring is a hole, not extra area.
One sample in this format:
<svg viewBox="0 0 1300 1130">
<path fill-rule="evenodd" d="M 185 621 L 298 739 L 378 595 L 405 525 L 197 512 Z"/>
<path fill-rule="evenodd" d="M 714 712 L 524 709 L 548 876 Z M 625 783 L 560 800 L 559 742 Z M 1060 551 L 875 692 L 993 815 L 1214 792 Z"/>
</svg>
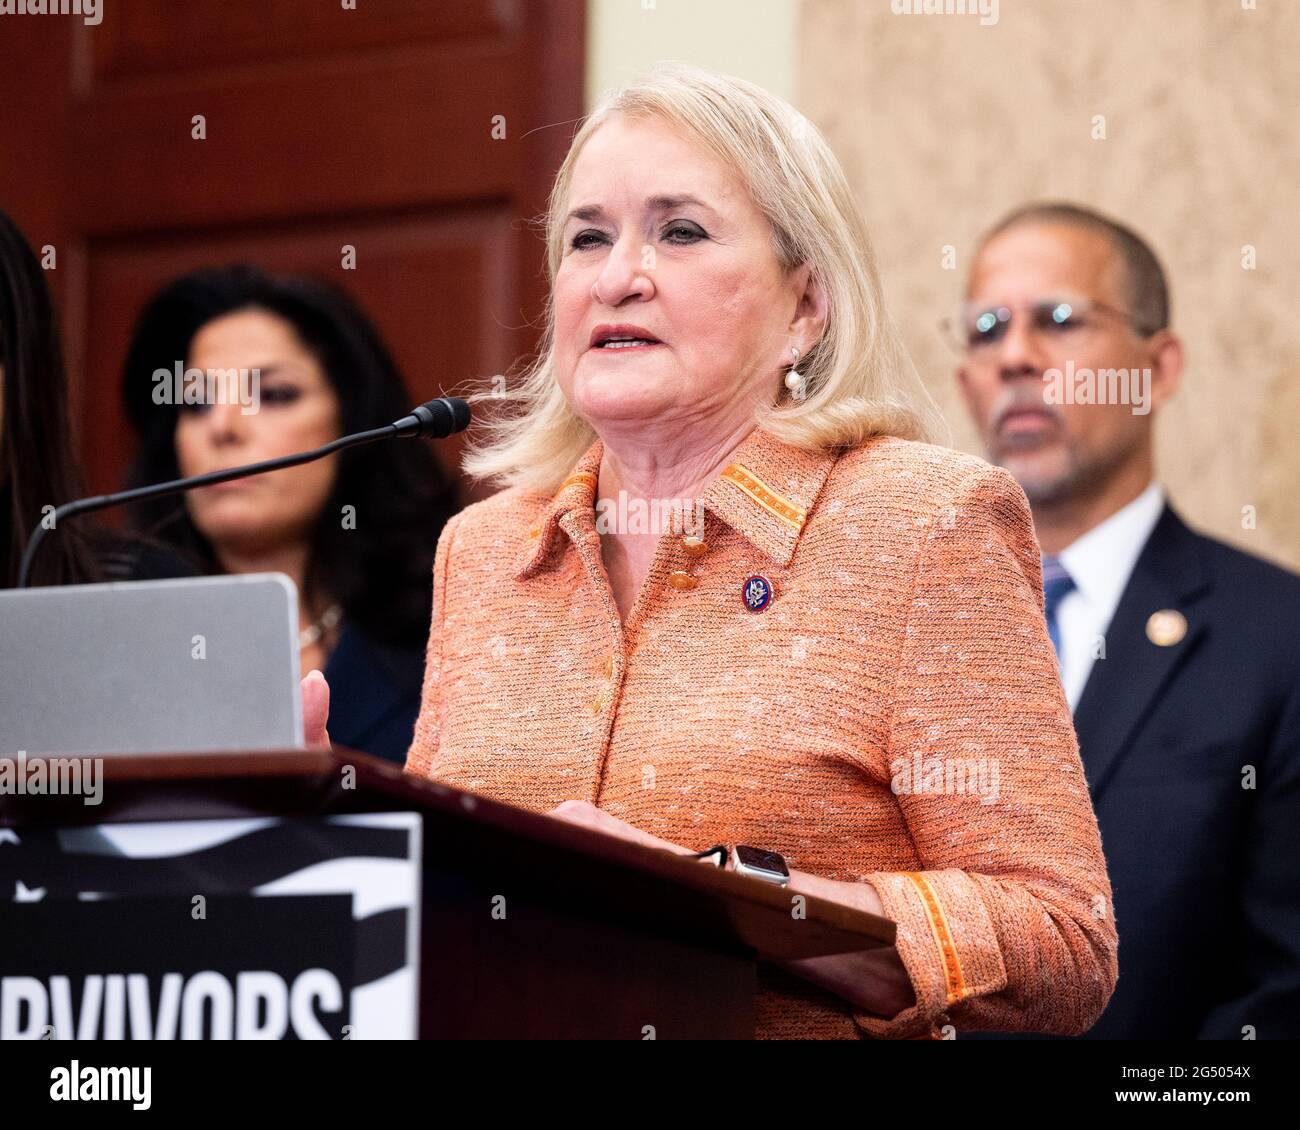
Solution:
<svg viewBox="0 0 1300 1130">
<path fill-rule="evenodd" d="M 303 745 L 283 573 L 0 590 L 0 757 Z"/>
</svg>

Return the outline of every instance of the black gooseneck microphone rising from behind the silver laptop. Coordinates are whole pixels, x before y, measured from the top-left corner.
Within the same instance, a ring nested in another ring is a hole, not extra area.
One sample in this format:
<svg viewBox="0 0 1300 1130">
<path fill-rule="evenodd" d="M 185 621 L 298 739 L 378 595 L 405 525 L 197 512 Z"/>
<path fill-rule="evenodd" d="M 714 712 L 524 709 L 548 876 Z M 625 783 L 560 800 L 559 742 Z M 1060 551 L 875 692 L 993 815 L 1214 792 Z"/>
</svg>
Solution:
<svg viewBox="0 0 1300 1130">
<path fill-rule="evenodd" d="M 194 475 L 188 479 L 173 479 L 170 482 L 156 482 L 152 486 L 136 486 L 134 490 L 118 490 L 116 494 L 96 494 L 94 498 L 78 498 L 73 502 L 65 502 L 62 506 L 55 508 L 53 515 L 51 515 L 52 521 L 48 525 L 46 524 L 47 519 L 42 519 L 31 532 L 27 547 L 22 553 L 22 564 L 18 568 L 18 588 L 27 588 L 31 563 L 36 559 L 36 551 L 46 540 L 46 534 L 51 529 L 56 529 L 58 523 L 66 518 L 91 514 L 96 510 L 108 510 L 108 507 L 121 506 L 124 502 L 142 502 L 146 498 L 179 494 L 182 490 L 194 490 L 196 486 L 211 486 L 214 482 L 229 482 L 231 479 L 247 479 L 250 475 L 280 471 L 282 467 L 298 467 L 303 463 L 324 459 L 326 455 L 333 455 L 344 447 L 358 447 L 361 443 L 374 443 L 378 440 L 411 438 L 413 436 L 428 436 L 430 440 L 442 440 L 455 432 L 464 432 L 469 427 L 469 404 L 459 397 L 438 397 L 437 401 L 426 401 L 400 420 L 394 420 L 382 428 L 372 428 L 369 432 L 343 436 L 312 451 L 302 451 L 298 455 L 282 455 L 280 459 L 265 459 L 261 463 L 250 463 L 244 467 L 228 467 L 225 471 L 211 471 L 207 475 Z"/>
</svg>

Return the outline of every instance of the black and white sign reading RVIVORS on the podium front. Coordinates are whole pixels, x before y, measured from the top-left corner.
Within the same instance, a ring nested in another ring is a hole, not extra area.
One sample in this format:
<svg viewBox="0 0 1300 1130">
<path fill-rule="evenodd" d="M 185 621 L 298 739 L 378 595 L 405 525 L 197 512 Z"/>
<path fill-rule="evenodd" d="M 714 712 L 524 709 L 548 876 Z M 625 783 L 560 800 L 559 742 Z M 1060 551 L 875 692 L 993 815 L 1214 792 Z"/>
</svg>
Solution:
<svg viewBox="0 0 1300 1130">
<path fill-rule="evenodd" d="M 0 1039 L 413 1039 L 420 817 L 0 828 Z"/>
</svg>

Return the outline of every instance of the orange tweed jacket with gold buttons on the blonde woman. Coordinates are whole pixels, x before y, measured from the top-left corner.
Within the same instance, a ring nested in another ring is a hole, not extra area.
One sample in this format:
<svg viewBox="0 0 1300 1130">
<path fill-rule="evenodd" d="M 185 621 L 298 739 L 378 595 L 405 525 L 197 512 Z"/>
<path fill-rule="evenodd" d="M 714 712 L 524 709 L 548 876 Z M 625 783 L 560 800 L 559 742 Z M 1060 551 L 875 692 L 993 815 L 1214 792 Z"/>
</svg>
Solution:
<svg viewBox="0 0 1300 1130">
<path fill-rule="evenodd" d="M 1017 482 L 923 443 L 811 454 L 755 429 L 703 494 L 705 551 L 660 537 L 623 624 L 601 455 L 443 529 L 407 770 L 871 883 L 916 1004 L 881 1019 L 763 966 L 759 1036 L 1092 1025 L 1117 978 L 1110 884 Z"/>
</svg>

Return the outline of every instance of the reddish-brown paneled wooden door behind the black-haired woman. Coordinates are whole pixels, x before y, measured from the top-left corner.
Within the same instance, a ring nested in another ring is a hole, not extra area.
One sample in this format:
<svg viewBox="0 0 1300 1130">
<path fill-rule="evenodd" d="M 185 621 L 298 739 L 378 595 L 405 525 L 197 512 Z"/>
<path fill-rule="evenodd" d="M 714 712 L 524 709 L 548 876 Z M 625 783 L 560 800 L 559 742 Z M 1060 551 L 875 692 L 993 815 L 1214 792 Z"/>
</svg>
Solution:
<svg viewBox="0 0 1300 1130">
<path fill-rule="evenodd" d="M 584 16 L 581 0 L 105 0 L 98 26 L 5 17 L 0 207 L 57 252 L 91 488 L 130 456 L 134 319 L 196 267 L 343 285 L 415 401 L 530 351 L 546 278 L 529 221 L 582 112 Z M 441 449 L 448 466 L 458 450 Z"/>
</svg>

